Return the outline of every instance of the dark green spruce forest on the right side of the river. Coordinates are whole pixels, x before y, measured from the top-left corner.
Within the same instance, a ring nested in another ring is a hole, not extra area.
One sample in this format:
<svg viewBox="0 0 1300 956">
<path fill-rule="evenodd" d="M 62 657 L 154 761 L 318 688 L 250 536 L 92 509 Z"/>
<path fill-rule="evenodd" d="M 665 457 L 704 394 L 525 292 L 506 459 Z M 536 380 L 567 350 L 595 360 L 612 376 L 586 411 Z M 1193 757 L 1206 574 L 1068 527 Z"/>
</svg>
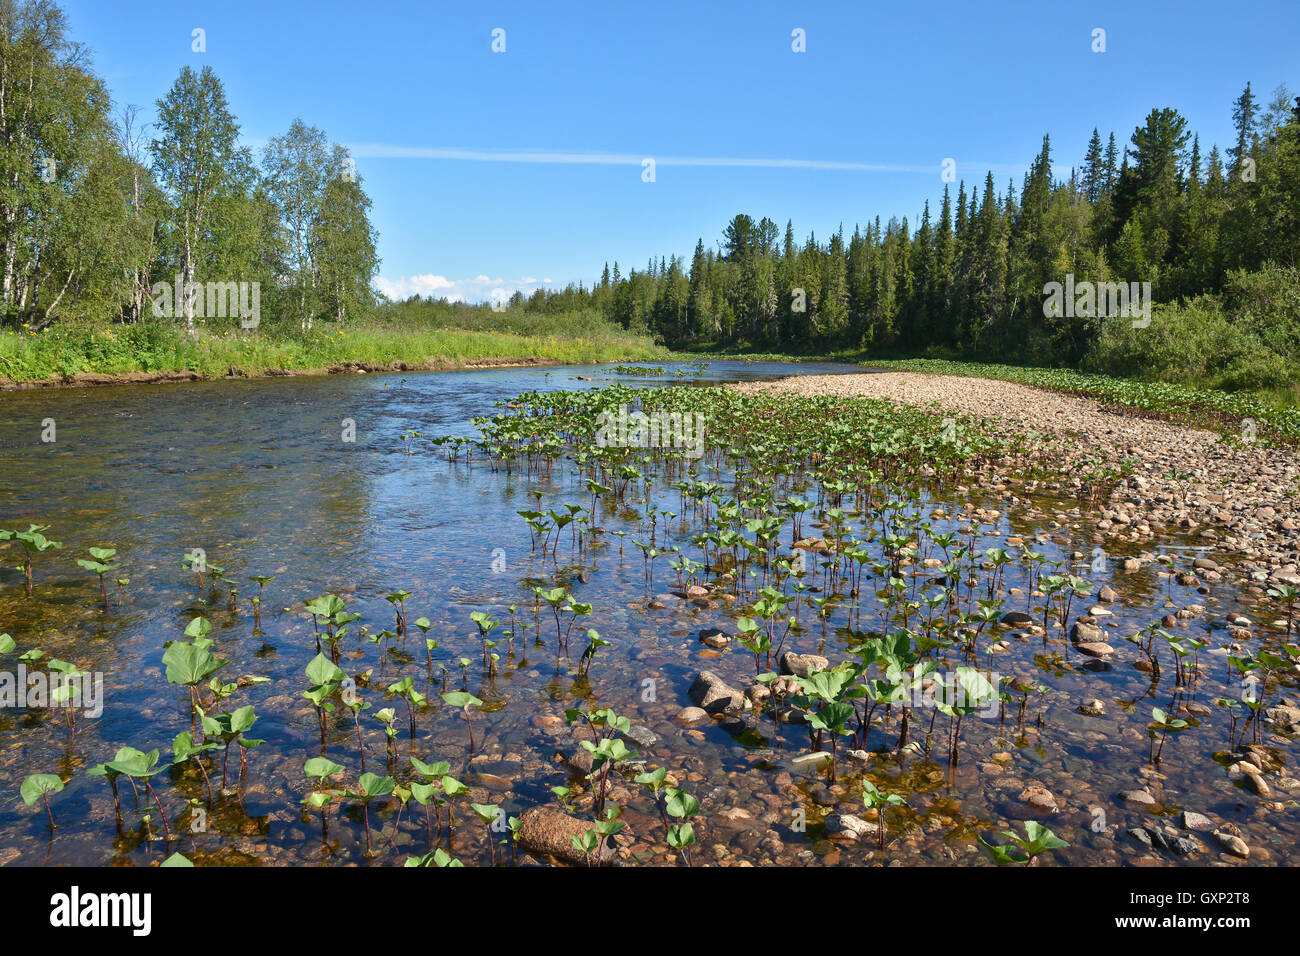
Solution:
<svg viewBox="0 0 1300 956">
<path fill-rule="evenodd" d="M 849 235 L 841 228 L 797 242 L 792 222 L 740 215 L 716 248 L 701 239 L 689 260 L 650 260 L 625 274 L 615 263 L 592 287 L 517 302 L 590 306 L 671 345 L 1052 365 L 1104 363 L 1098 338 L 1118 332 L 1100 317 L 1044 316 L 1044 285 L 1067 274 L 1150 282 L 1165 323 L 1173 303 L 1196 297 L 1202 311 L 1262 300 L 1284 319 L 1280 306 L 1300 290 L 1300 98 L 1279 88 L 1265 107 L 1247 85 L 1232 117 L 1226 153 L 1204 150 L 1178 111 L 1153 109 L 1122 148 L 1113 133 L 1093 130 L 1069 176 L 1057 174 L 1044 137 L 1019 189 L 998 190 L 992 173 L 983 185 L 958 183 L 956 195 L 945 186 L 939 208 L 927 203 L 918 221 L 878 217 Z M 1226 299 L 1204 298 L 1219 294 Z M 1290 321 L 1300 329 L 1294 310 Z M 1291 338 L 1275 334 L 1269 347 L 1294 347 Z M 1134 347 L 1124 354 L 1140 364 Z"/>
</svg>

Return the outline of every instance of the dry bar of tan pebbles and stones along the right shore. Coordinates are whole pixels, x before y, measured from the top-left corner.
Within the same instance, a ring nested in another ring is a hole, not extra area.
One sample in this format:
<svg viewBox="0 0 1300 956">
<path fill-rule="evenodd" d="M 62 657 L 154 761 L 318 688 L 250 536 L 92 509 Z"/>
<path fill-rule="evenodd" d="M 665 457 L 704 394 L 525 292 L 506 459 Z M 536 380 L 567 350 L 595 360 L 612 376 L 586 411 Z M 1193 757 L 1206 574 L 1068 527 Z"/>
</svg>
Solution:
<svg viewBox="0 0 1300 956">
<path fill-rule="evenodd" d="M 937 406 L 997 434 L 1030 434 L 1034 464 L 1052 473 L 1026 492 L 1087 497 L 1102 489 L 1092 509 L 1058 515 L 1092 545 L 1123 553 L 1150 548 L 1166 532 L 1192 535 L 1256 583 L 1300 584 L 1300 454 L 1292 447 L 1225 441 L 1105 399 L 993 378 L 887 371 L 734 388 Z"/>
</svg>

